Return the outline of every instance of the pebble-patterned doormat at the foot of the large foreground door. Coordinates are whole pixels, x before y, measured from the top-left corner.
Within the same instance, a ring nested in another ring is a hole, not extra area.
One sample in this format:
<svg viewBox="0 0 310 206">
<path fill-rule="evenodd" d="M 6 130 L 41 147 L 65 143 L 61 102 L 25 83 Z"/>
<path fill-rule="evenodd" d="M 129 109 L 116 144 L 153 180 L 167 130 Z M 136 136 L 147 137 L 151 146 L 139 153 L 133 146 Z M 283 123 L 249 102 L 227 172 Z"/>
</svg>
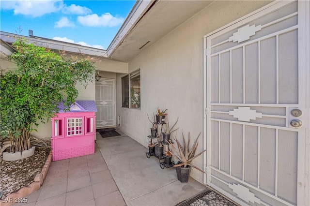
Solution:
<svg viewBox="0 0 310 206">
<path fill-rule="evenodd" d="M 209 188 L 195 196 L 178 203 L 176 206 L 237 206 Z"/>
</svg>

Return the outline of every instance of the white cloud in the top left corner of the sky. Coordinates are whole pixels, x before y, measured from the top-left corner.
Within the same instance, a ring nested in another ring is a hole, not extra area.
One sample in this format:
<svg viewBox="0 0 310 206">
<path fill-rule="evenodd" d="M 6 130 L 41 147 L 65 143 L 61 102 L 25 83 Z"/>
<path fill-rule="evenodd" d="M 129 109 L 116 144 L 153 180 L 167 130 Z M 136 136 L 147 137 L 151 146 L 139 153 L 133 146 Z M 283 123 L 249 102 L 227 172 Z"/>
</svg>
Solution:
<svg viewBox="0 0 310 206">
<path fill-rule="evenodd" d="M 38 17 L 60 11 L 62 0 L 1 0 L 1 9 L 14 10 L 15 15 Z"/>
</svg>

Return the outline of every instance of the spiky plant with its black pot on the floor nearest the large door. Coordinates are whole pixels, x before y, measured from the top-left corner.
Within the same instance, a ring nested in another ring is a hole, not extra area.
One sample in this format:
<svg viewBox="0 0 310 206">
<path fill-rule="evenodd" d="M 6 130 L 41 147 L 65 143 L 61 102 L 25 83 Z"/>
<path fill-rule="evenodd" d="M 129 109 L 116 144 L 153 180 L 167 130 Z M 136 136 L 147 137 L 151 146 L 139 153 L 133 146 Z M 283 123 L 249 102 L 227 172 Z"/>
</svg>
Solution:
<svg viewBox="0 0 310 206">
<path fill-rule="evenodd" d="M 199 154 L 195 155 L 197 147 L 198 147 L 198 138 L 199 138 L 200 134 L 198 135 L 198 137 L 194 141 L 194 144 L 192 145 L 192 147 L 189 147 L 189 145 L 190 145 L 190 134 L 189 134 L 189 132 L 188 132 L 187 143 L 185 141 L 184 134 L 182 133 L 183 145 L 176 138 L 174 138 L 176 141 L 178 149 L 173 146 L 171 141 L 170 142 L 167 141 L 173 150 L 173 151 L 171 151 L 171 154 L 174 157 L 176 157 L 176 159 L 179 161 L 179 162 L 177 162 L 177 164 L 175 164 L 173 166 L 176 167 L 175 168 L 176 174 L 177 174 L 178 180 L 180 182 L 187 182 L 188 181 L 189 174 L 191 171 L 191 167 L 194 167 L 194 168 L 198 169 L 199 171 L 205 173 L 202 169 L 198 168 L 197 166 L 195 166 L 191 163 L 193 159 L 195 159 L 196 157 L 198 157 L 199 155 L 201 155 L 203 152 L 206 151 L 206 150 L 203 150 Z"/>
</svg>

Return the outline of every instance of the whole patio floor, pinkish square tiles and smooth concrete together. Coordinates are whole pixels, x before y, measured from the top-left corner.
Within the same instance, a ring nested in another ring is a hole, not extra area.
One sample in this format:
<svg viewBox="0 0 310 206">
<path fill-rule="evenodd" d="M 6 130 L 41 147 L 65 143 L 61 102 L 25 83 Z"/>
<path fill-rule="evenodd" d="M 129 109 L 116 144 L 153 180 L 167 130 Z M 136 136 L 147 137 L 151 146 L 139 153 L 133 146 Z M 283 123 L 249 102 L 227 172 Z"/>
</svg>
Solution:
<svg viewBox="0 0 310 206">
<path fill-rule="evenodd" d="M 92 155 L 51 162 L 42 187 L 27 206 L 174 206 L 206 187 L 190 178 L 177 180 L 174 168 L 124 135 L 102 138 L 97 132 Z M 21 204 L 15 204 L 21 205 Z"/>
</svg>

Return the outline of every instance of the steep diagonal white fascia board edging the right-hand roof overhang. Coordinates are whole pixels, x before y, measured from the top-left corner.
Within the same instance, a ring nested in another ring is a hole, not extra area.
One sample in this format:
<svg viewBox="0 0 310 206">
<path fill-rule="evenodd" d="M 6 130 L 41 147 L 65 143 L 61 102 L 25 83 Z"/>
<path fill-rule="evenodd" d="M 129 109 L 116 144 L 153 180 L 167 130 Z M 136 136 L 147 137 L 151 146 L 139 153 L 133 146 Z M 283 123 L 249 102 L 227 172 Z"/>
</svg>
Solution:
<svg viewBox="0 0 310 206">
<path fill-rule="evenodd" d="M 140 18 L 144 15 L 147 9 L 154 3 L 154 0 L 137 0 L 131 12 L 125 19 L 121 29 L 117 32 L 114 39 L 107 49 L 108 57 L 112 55 L 114 50 L 122 44 L 125 37 L 129 34 L 131 29 L 135 27 Z"/>
</svg>

